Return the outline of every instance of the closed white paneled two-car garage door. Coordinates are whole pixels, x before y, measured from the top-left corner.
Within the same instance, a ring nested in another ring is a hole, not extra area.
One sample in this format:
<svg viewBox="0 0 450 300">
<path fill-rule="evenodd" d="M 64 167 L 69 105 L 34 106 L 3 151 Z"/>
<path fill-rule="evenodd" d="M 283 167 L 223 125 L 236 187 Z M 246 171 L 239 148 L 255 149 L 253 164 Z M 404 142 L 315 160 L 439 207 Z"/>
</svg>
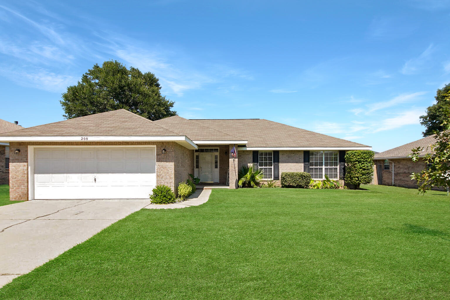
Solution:
<svg viewBox="0 0 450 300">
<path fill-rule="evenodd" d="M 146 148 L 35 148 L 35 199 L 148 198 L 156 152 Z"/>
</svg>

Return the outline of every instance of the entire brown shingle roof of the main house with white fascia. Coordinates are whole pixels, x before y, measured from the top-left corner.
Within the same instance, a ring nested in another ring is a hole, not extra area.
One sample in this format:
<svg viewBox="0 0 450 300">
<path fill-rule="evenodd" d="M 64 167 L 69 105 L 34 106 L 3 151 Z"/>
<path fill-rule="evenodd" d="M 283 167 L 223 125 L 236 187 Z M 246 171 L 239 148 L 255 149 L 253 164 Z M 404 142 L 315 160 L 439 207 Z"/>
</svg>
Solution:
<svg viewBox="0 0 450 300">
<path fill-rule="evenodd" d="M 2 139 L 2 137 L 4 137 Z M 246 145 L 248 150 L 367 149 L 371 147 L 264 119 L 188 120 L 172 116 L 150 121 L 125 109 L 0 134 L 0 141 L 177 141 Z M 83 139 L 84 141 L 84 139 Z"/>
</svg>

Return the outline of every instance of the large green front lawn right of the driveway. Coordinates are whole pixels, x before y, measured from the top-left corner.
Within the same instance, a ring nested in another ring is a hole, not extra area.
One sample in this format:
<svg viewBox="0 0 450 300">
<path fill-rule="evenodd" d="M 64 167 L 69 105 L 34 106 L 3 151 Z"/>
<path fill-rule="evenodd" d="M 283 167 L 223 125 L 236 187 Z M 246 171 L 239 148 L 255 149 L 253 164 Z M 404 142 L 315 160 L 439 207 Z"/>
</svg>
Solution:
<svg viewBox="0 0 450 300">
<path fill-rule="evenodd" d="M 215 189 L 140 210 L 0 299 L 450 299 L 442 192 Z"/>
</svg>

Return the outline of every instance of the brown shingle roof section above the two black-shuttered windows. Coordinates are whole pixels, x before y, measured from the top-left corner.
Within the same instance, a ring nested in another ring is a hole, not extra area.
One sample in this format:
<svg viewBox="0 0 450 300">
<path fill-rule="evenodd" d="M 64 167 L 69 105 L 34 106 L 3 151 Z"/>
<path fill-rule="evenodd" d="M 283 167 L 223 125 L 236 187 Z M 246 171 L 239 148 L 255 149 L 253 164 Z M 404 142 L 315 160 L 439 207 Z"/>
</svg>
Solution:
<svg viewBox="0 0 450 300">
<path fill-rule="evenodd" d="M 367 148 L 369 146 L 333 138 L 313 131 L 265 119 L 191 120 L 247 140 L 247 148 Z"/>
</svg>

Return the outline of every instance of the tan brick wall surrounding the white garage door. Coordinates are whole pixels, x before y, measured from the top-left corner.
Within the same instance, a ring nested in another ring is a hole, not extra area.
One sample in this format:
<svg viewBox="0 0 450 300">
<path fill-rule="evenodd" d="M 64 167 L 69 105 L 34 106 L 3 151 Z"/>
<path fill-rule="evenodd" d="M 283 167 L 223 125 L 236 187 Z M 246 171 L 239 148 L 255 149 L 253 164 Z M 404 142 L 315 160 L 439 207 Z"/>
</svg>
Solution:
<svg viewBox="0 0 450 300">
<path fill-rule="evenodd" d="M 9 198 L 28 200 L 28 146 L 126 146 L 156 145 L 156 184 L 169 186 L 175 193 L 180 181 L 193 172 L 193 150 L 175 142 L 67 142 L 10 143 L 9 149 L 20 149 L 9 155 Z M 162 154 L 162 149 L 166 153 Z M 185 175 L 184 175 L 185 174 Z"/>
</svg>

